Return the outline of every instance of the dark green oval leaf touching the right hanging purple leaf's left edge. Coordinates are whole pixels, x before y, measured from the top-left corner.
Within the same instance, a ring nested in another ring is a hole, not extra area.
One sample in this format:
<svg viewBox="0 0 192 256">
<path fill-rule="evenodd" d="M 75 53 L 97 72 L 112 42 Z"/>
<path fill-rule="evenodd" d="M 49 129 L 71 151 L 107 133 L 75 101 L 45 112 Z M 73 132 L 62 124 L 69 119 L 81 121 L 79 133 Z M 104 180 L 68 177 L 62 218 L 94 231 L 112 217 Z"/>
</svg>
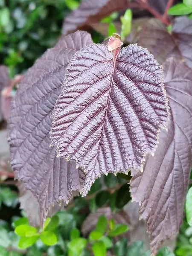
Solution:
<svg viewBox="0 0 192 256">
<path fill-rule="evenodd" d="M 124 184 L 117 191 L 115 206 L 118 209 L 122 209 L 131 200 L 131 194 L 129 192 L 129 184 Z"/>
</svg>

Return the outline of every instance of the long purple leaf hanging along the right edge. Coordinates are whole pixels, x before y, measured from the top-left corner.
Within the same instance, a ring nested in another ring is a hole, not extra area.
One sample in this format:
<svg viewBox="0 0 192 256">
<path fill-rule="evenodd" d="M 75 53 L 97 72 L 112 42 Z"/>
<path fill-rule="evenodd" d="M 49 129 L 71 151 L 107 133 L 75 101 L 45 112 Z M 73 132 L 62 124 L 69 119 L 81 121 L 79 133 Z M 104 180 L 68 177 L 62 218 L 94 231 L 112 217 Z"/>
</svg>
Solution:
<svg viewBox="0 0 192 256">
<path fill-rule="evenodd" d="M 151 252 L 178 232 L 192 166 L 192 70 L 172 58 L 164 64 L 165 87 L 171 108 L 168 132 L 161 131 L 154 157 L 143 175 L 131 180 L 131 195 L 147 221 Z"/>
</svg>

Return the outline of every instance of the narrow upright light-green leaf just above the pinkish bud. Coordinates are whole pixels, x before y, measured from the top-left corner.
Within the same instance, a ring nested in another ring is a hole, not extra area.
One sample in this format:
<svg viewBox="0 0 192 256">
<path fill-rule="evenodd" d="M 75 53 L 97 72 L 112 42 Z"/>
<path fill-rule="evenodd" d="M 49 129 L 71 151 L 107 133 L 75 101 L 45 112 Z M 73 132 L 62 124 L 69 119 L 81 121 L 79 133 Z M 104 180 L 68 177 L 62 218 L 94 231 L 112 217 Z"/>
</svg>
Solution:
<svg viewBox="0 0 192 256">
<path fill-rule="evenodd" d="M 131 23 L 132 23 L 131 9 L 127 9 L 124 16 L 121 16 L 120 19 L 121 19 L 121 38 L 122 40 L 124 40 L 131 32 Z"/>
</svg>

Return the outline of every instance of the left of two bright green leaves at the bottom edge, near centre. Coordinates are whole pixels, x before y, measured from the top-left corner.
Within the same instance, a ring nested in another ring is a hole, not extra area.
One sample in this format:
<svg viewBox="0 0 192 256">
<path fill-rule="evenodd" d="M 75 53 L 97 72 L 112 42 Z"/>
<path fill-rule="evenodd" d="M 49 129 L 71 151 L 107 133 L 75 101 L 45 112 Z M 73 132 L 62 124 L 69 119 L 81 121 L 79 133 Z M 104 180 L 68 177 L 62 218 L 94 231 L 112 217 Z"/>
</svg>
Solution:
<svg viewBox="0 0 192 256">
<path fill-rule="evenodd" d="M 86 245 L 87 240 L 85 238 L 73 239 L 68 243 L 69 256 L 80 256 Z"/>
</svg>

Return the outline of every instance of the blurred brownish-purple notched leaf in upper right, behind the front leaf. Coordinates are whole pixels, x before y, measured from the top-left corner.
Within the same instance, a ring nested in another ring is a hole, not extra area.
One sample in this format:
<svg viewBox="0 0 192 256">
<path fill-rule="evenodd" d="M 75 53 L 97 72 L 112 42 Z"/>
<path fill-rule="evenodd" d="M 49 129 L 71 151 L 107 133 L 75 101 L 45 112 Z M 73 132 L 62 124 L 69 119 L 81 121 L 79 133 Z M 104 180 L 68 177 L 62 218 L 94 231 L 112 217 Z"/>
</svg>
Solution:
<svg viewBox="0 0 192 256">
<path fill-rule="evenodd" d="M 140 32 L 138 43 L 146 47 L 160 64 L 168 57 L 175 57 L 184 59 L 192 67 L 192 20 L 187 17 L 175 19 L 171 34 L 160 20 L 149 20 Z"/>
</svg>

